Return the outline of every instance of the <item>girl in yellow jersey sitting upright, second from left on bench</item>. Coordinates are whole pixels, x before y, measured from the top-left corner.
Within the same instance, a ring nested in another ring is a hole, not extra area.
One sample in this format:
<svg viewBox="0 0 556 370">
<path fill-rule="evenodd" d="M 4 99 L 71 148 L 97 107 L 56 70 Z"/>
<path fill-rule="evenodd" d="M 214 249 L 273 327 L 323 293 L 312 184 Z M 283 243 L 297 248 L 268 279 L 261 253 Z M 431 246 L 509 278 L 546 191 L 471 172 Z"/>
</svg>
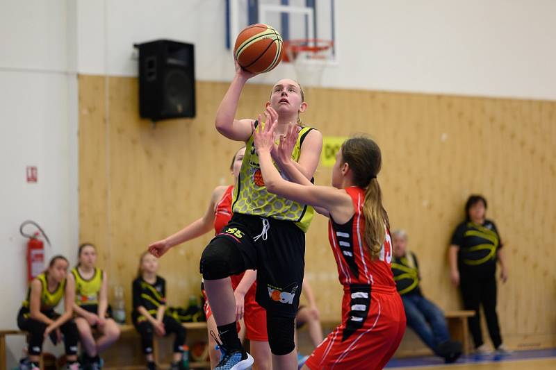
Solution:
<svg viewBox="0 0 556 370">
<path fill-rule="evenodd" d="M 97 370 L 101 368 L 99 353 L 116 342 L 120 337 L 120 328 L 107 315 L 108 276 L 95 266 L 95 246 L 81 244 L 77 258 L 79 263 L 72 269 L 72 274 L 67 276 L 67 280 L 75 286 L 73 309 L 83 346 L 82 365 L 85 370 Z M 93 328 L 101 333 L 96 341 L 92 335 Z"/>
</svg>

